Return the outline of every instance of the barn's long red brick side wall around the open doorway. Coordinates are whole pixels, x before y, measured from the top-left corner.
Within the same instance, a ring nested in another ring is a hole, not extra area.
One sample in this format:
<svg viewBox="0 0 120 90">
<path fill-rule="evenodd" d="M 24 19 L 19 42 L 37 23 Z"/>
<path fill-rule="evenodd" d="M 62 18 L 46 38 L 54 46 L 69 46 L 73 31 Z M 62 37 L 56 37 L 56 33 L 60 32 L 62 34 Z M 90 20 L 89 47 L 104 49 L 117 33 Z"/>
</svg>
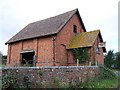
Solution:
<svg viewBox="0 0 120 90">
<path fill-rule="evenodd" d="M 37 56 L 37 66 L 53 65 L 53 39 L 45 37 L 25 40 L 8 45 L 7 66 L 20 64 L 20 52 L 22 50 L 34 50 Z"/>
</svg>

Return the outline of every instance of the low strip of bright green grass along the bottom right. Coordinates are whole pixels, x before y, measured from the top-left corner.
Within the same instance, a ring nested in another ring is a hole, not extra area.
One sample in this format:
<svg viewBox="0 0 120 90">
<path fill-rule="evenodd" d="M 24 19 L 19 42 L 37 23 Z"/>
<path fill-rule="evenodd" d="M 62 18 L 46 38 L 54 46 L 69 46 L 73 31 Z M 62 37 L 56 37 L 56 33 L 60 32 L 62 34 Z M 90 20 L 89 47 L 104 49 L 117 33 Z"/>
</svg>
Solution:
<svg viewBox="0 0 120 90">
<path fill-rule="evenodd" d="M 83 89 L 106 89 L 106 88 L 117 88 L 118 87 L 118 78 L 115 79 L 98 79 L 91 78 L 84 83 L 78 83 L 76 85 L 64 86 L 60 84 L 58 88 L 83 88 Z"/>
</svg>

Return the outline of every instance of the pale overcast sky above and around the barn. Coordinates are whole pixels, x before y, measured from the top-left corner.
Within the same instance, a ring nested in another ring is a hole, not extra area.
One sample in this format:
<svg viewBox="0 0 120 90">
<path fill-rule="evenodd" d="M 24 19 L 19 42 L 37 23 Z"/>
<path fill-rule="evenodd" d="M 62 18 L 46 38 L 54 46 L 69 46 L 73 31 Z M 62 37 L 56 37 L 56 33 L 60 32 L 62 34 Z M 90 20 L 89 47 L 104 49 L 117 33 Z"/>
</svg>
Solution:
<svg viewBox="0 0 120 90">
<path fill-rule="evenodd" d="M 78 8 L 87 31 L 100 29 L 106 49 L 118 51 L 119 0 L 0 0 L 0 51 L 27 24 Z"/>
</svg>

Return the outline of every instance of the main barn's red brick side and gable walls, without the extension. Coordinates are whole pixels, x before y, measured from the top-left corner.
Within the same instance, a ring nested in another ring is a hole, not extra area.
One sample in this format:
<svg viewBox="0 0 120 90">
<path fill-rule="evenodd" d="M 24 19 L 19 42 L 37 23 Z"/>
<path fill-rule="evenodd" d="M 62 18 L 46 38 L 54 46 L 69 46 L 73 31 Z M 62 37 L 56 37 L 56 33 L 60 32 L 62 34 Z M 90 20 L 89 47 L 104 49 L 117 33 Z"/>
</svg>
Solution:
<svg viewBox="0 0 120 90">
<path fill-rule="evenodd" d="M 66 65 L 67 63 L 67 52 L 64 45 L 68 45 L 71 38 L 75 35 L 73 32 L 73 25 L 77 26 L 78 33 L 83 32 L 78 16 L 75 14 L 65 25 L 63 30 L 59 32 L 55 40 L 56 65 Z M 14 60 L 19 63 L 20 51 L 22 50 L 35 50 L 35 55 L 37 56 L 37 66 L 53 65 L 53 37 L 25 40 L 9 45 L 8 56 L 10 55 L 9 59 L 11 65 L 13 64 L 12 62 L 14 62 Z M 68 57 L 68 63 L 74 63 L 71 51 L 68 52 Z"/>
</svg>

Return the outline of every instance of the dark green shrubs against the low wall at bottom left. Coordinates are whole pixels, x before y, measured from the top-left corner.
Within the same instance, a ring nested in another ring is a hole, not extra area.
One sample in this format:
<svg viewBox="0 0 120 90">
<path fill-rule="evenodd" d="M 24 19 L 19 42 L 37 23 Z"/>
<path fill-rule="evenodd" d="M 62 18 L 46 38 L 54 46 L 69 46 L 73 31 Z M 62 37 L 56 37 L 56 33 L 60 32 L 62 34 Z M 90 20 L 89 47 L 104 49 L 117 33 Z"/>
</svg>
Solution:
<svg viewBox="0 0 120 90">
<path fill-rule="evenodd" d="M 20 76 L 18 74 L 8 72 L 2 75 L 2 88 L 6 89 L 20 89 L 30 88 L 31 80 L 28 75 L 23 76 L 23 83 L 20 82 Z"/>
</svg>

